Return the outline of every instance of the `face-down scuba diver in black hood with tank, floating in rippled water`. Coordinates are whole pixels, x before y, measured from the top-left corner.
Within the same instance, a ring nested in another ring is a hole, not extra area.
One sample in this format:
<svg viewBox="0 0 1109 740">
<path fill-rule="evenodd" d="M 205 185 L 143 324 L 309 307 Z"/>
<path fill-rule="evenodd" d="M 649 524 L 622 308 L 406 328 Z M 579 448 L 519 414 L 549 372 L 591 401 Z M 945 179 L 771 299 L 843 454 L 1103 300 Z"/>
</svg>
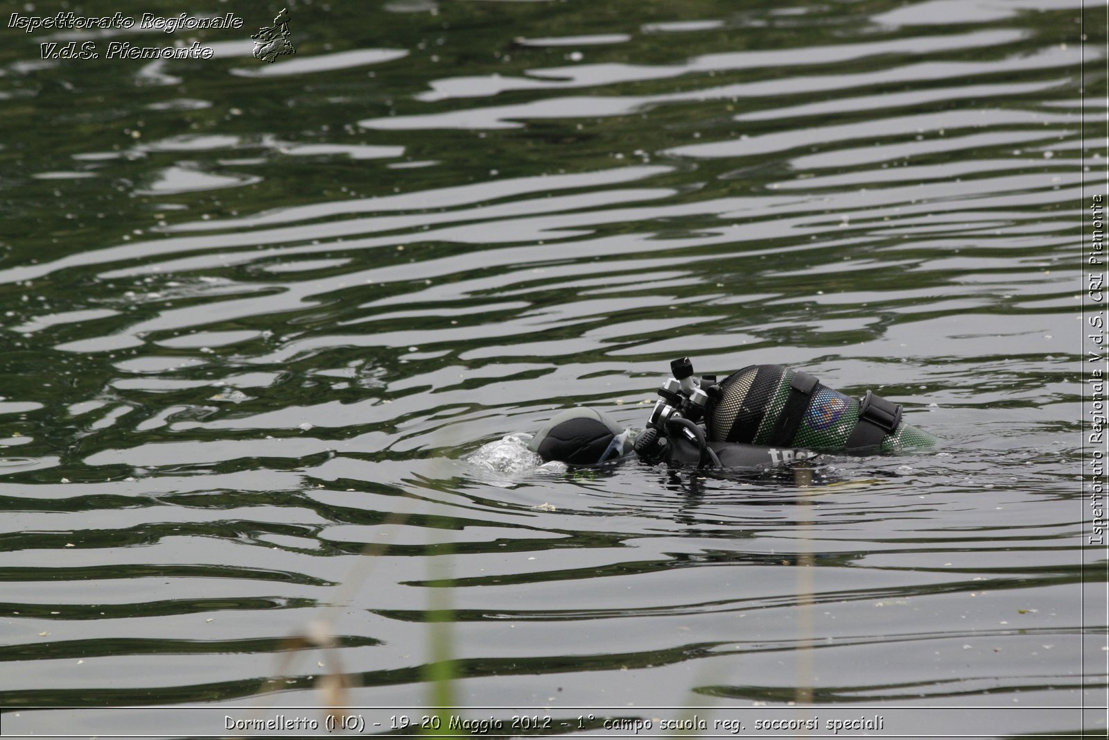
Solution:
<svg viewBox="0 0 1109 740">
<path fill-rule="evenodd" d="M 902 407 L 869 391 L 851 398 L 803 371 L 751 365 L 716 382 L 670 363 L 647 429 L 635 436 L 603 412 L 570 408 L 528 443 L 545 463 L 599 465 L 634 454 L 649 465 L 771 468 L 820 454 L 876 455 L 927 448 L 936 438 L 902 420 Z"/>
</svg>

